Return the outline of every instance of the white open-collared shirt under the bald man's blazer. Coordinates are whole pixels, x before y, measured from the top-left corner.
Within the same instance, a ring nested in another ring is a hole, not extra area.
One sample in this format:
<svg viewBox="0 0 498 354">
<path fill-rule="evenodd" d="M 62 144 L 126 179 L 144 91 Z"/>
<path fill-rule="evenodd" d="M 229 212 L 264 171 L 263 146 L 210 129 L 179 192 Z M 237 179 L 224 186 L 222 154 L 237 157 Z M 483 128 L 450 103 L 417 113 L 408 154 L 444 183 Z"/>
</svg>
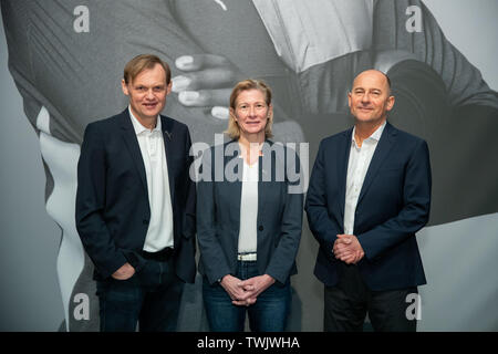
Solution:
<svg viewBox="0 0 498 354">
<path fill-rule="evenodd" d="M 365 180 L 370 163 L 384 132 L 385 122 L 371 136 L 363 140 L 359 147 L 354 139 L 356 127 L 351 135 L 350 162 L 347 164 L 346 196 L 344 204 L 344 233 L 354 235 L 354 214 L 356 211 L 357 198 Z"/>
</svg>

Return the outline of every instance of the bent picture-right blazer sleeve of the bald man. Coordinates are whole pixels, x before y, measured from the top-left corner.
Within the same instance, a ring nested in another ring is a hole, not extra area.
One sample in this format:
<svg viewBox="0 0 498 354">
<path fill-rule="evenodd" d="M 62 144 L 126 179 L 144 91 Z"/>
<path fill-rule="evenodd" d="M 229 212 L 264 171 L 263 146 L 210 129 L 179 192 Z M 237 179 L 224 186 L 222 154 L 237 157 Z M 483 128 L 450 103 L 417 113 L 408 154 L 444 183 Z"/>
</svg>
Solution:
<svg viewBox="0 0 498 354">
<path fill-rule="evenodd" d="M 419 140 L 404 171 L 403 207 L 398 215 L 377 227 L 356 235 L 365 257 L 382 257 L 390 248 L 415 236 L 428 221 L 430 209 L 430 162 L 427 143 Z"/>
</svg>

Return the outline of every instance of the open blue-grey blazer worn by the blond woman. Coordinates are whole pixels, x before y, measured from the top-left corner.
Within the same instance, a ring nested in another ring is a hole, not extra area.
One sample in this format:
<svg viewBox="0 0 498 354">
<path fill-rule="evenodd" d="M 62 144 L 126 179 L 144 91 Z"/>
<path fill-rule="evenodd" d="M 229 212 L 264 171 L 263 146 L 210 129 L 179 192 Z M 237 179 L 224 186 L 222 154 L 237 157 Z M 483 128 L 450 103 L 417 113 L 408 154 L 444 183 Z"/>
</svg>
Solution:
<svg viewBox="0 0 498 354">
<path fill-rule="evenodd" d="M 300 180 L 292 180 L 294 178 L 288 174 L 279 175 L 287 167 L 299 171 L 295 169 L 295 164 L 299 166 L 295 153 L 280 145 L 283 154 L 276 154 L 270 149 L 276 148 L 277 144 L 267 143 L 262 149 L 263 156 L 271 158 L 259 157 L 257 267 L 260 274 L 269 274 L 283 284 L 297 273 L 303 195 L 302 190 L 289 192 L 289 187 L 295 187 Z M 227 146 L 235 149 L 229 152 L 228 148 L 228 156 L 217 162 L 216 154 L 224 154 Z M 239 155 L 238 144 L 232 140 L 205 150 L 203 156 L 200 173 L 208 178 L 197 183 L 197 239 L 199 272 L 207 277 L 209 283 L 237 271 L 242 183 L 241 178 L 227 179 L 224 171 L 226 167 L 234 167 L 230 170 L 236 174 L 240 171 L 241 177 L 243 162 Z M 215 181 L 215 177 L 222 180 Z"/>
</svg>

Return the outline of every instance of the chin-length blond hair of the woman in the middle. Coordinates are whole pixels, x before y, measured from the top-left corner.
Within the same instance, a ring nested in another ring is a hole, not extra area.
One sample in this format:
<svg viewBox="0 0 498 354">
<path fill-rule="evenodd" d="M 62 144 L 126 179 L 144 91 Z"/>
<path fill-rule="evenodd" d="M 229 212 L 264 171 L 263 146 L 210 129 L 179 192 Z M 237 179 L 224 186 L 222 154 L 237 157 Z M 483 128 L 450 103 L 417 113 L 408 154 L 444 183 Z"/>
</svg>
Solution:
<svg viewBox="0 0 498 354">
<path fill-rule="evenodd" d="M 239 97 L 242 91 L 249 90 L 259 90 L 264 94 L 264 102 L 268 106 L 271 105 L 271 88 L 262 81 L 255 79 L 247 79 L 237 83 L 237 85 L 231 91 L 230 95 L 230 108 L 235 112 L 237 106 L 237 98 Z M 273 113 L 268 116 L 267 125 L 264 127 L 264 138 L 270 138 L 273 136 L 271 132 L 271 127 L 273 125 Z M 240 137 L 240 127 L 235 118 L 235 116 L 230 112 L 230 116 L 228 118 L 228 128 L 225 131 L 225 134 L 232 139 L 238 139 Z"/>
</svg>

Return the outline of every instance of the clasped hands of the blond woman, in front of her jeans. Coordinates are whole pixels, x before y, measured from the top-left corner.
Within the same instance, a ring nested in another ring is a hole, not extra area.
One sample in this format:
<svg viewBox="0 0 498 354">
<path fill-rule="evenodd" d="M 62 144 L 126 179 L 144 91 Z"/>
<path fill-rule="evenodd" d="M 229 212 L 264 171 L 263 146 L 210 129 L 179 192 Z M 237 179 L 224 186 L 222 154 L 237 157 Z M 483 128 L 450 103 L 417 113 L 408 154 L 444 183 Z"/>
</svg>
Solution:
<svg viewBox="0 0 498 354">
<path fill-rule="evenodd" d="M 221 279 L 221 287 L 230 295 L 231 303 L 238 306 L 249 306 L 256 303 L 260 293 L 274 283 L 274 279 L 268 274 L 240 280 L 231 274 Z"/>
</svg>

